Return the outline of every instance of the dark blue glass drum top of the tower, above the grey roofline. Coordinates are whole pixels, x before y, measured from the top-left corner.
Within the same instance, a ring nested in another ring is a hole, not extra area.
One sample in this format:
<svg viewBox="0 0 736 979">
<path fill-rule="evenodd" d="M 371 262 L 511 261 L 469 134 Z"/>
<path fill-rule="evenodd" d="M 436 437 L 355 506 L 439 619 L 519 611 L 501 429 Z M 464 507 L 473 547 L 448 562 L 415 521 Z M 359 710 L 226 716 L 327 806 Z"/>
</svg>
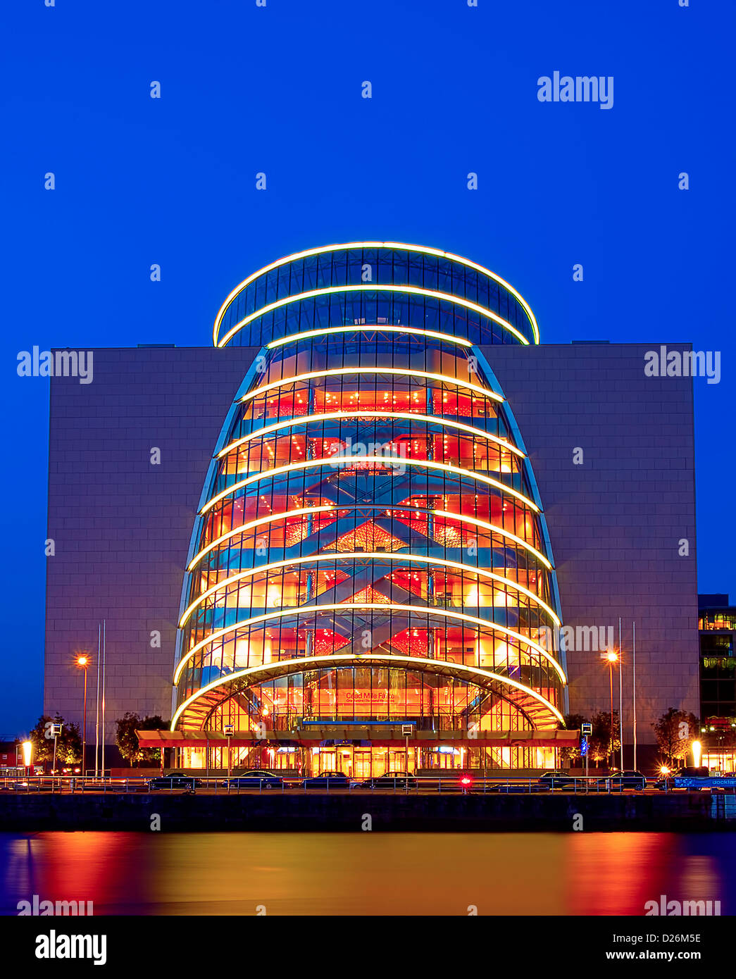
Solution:
<svg viewBox="0 0 736 979">
<path fill-rule="evenodd" d="M 233 290 L 215 345 L 258 347 L 307 330 L 418 326 L 474 344 L 539 343 L 529 304 L 503 279 L 460 256 L 362 242 L 301 252 Z"/>
</svg>

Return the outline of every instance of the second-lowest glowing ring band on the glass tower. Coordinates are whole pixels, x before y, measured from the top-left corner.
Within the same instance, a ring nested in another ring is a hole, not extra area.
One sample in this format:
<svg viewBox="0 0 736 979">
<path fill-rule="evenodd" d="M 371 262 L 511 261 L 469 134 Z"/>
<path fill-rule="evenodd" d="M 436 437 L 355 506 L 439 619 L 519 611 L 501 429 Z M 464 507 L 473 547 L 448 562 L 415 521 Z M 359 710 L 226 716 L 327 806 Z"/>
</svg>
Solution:
<svg viewBox="0 0 736 979">
<path fill-rule="evenodd" d="M 408 612 L 410 615 L 422 614 L 422 615 L 434 615 L 440 616 L 444 619 L 456 619 L 459 622 L 467 622 L 474 626 L 482 626 L 483 629 L 488 629 L 491 632 L 501 632 L 503 635 L 507 635 L 512 639 L 516 639 L 517 642 L 523 643 L 529 649 L 533 649 L 534 652 L 538 653 L 541 657 L 547 660 L 554 667 L 558 676 L 567 682 L 567 678 L 563 672 L 560 664 L 549 655 L 546 649 L 542 649 L 540 645 L 534 642 L 533 639 L 529 639 L 529 636 L 522 635 L 521 632 L 517 632 L 515 629 L 509 629 L 507 626 L 501 626 L 498 623 L 487 622 L 485 619 L 479 619 L 476 616 L 466 615 L 465 612 L 449 612 L 447 609 L 431 608 L 428 605 L 394 605 L 385 604 L 383 602 L 370 603 L 370 602 L 339 602 L 339 603 L 329 603 L 327 605 L 309 605 L 302 606 L 301 608 L 294 609 L 281 609 L 278 612 L 266 612 L 264 615 L 256 615 L 251 619 L 243 619 L 241 622 L 235 622 L 231 626 L 225 626 L 224 629 L 217 629 L 211 632 L 206 639 L 201 639 L 200 642 L 196 643 L 192 648 L 186 653 L 185 656 L 179 660 L 174 671 L 174 683 L 178 682 L 179 677 L 184 671 L 184 667 L 189 662 L 189 660 L 198 653 L 201 649 L 210 645 L 212 642 L 216 642 L 223 636 L 228 635 L 230 632 L 236 632 L 238 629 L 250 628 L 252 626 L 257 626 L 260 623 L 271 622 L 273 619 L 288 619 L 291 616 L 299 618 L 301 615 L 319 615 L 321 612 Z M 529 655 L 529 654 L 528 654 Z"/>
</svg>

